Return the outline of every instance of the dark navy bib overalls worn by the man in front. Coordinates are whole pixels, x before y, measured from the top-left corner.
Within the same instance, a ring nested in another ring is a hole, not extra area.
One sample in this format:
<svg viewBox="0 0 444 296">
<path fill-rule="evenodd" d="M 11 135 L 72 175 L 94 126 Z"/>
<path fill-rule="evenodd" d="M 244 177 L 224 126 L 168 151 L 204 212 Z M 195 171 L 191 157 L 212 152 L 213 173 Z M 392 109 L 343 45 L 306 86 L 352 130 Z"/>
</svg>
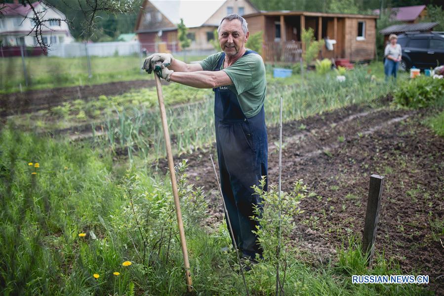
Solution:
<svg viewBox="0 0 444 296">
<path fill-rule="evenodd" d="M 257 53 L 248 50 L 246 54 Z M 215 71 L 220 71 L 224 59 L 225 53 Z M 260 206 L 260 198 L 253 194 L 251 186 L 258 185 L 268 169 L 264 106 L 257 115 L 246 118 L 237 95 L 228 86 L 213 91 L 220 183 L 234 237 L 244 256 L 262 255 L 257 237 L 251 232 L 258 224 L 250 217 L 254 215 L 253 205 Z"/>
</svg>

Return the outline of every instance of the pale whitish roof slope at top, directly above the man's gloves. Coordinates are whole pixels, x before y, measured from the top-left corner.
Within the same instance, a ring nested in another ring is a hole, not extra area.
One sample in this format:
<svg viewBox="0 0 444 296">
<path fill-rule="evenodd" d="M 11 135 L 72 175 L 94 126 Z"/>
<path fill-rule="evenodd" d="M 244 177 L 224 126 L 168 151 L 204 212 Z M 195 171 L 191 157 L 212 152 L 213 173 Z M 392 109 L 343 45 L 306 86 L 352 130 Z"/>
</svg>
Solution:
<svg viewBox="0 0 444 296">
<path fill-rule="evenodd" d="M 201 27 L 226 2 L 226 0 L 151 0 L 150 1 L 171 23 L 179 24 L 183 19 L 188 28 Z M 216 26 L 218 24 L 215 24 Z"/>
</svg>

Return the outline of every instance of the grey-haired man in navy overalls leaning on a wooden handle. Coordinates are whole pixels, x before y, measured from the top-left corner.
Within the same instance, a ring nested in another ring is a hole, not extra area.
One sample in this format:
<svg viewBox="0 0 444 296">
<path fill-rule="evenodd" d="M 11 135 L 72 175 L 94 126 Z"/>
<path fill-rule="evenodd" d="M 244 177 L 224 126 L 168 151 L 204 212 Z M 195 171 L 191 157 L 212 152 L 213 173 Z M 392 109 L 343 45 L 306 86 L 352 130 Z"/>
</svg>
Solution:
<svg viewBox="0 0 444 296">
<path fill-rule="evenodd" d="M 252 233 L 257 222 L 251 216 L 254 205 L 260 207 L 260 198 L 251 186 L 267 176 L 268 167 L 265 66 L 259 54 L 245 48 L 249 33 L 243 17 L 225 16 L 217 32 L 223 51 L 199 64 L 156 53 L 146 58 L 143 69 L 154 70 L 166 81 L 213 89 L 222 194 L 237 246 L 245 258 L 253 259 L 262 250 Z"/>
</svg>

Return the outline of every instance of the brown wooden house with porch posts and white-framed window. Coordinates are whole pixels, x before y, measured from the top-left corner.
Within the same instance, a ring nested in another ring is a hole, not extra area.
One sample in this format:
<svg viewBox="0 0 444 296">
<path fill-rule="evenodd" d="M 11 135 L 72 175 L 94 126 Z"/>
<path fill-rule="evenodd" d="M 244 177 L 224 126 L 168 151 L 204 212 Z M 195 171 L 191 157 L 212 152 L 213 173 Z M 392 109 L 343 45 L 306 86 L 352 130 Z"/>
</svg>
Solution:
<svg viewBox="0 0 444 296">
<path fill-rule="evenodd" d="M 372 60 L 376 51 L 374 15 L 308 11 L 268 11 L 243 16 L 250 34 L 262 31 L 265 61 L 294 63 L 300 60 L 304 44 L 301 28 L 313 28 L 315 39 L 335 40 L 333 50 L 324 45 L 319 58 Z M 248 42 L 247 42 L 248 46 Z"/>
</svg>

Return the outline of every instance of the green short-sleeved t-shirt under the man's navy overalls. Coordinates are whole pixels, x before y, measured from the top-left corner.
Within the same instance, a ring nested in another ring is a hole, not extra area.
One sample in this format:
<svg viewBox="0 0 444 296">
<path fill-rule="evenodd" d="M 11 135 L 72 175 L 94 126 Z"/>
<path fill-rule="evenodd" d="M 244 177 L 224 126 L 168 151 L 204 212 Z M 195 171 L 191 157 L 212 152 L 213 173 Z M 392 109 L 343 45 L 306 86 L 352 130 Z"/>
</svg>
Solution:
<svg viewBox="0 0 444 296">
<path fill-rule="evenodd" d="M 222 53 L 212 54 L 200 62 L 202 69 L 214 71 Z M 258 114 L 264 104 L 267 87 L 262 57 L 256 53 L 249 53 L 226 69 L 223 69 L 222 63 L 221 70 L 227 73 L 233 82 L 234 85 L 229 85 L 228 89 L 237 95 L 245 117 L 250 118 Z"/>
</svg>

